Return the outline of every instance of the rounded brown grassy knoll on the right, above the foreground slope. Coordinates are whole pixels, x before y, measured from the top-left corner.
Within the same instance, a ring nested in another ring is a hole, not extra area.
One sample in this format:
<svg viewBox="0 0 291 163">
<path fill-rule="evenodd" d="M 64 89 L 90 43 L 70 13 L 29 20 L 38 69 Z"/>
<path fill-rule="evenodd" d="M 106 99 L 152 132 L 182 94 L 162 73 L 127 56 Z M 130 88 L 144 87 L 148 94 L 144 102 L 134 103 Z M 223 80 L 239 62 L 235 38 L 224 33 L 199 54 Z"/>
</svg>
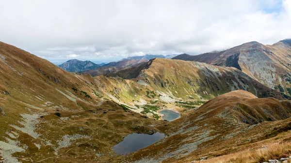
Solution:
<svg viewBox="0 0 291 163">
<path fill-rule="evenodd" d="M 218 96 L 197 111 L 225 109 L 227 114 L 233 114 L 243 123 L 257 124 L 262 121 L 275 121 L 290 118 L 290 101 L 279 101 L 275 98 L 262 98 L 254 96 L 250 92 L 236 90 Z"/>
</svg>

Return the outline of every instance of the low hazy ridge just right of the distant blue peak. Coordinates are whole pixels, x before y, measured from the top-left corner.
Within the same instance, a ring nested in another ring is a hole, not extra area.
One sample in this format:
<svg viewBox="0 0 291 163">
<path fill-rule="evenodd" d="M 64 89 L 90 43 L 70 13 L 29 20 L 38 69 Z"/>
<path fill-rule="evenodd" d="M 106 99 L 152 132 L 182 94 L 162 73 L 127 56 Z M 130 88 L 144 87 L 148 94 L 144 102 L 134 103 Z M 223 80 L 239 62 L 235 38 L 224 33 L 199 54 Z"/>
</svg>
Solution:
<svg viewBox="0 0 291 163">
<path fill-rule="evenodd" d="M 117 71 L 120 71 L 123 69 L 127 69 L 129 67 L 138 66 L 138 65 L 145 63 L 147 61 L 148 61 L 148 59 L 120 60 L 117 62 L 110 62 L 110 63 L 104 64 L 103 66 L 98 67 L 96 69 L 87 70 L 87 71 L 83 71 L 80 73 L 81 74 L 91 74 L 92 76 L 97 76 L 100 74 L 113 73 L 113 72 L 117 72 Z"/>
</svg>

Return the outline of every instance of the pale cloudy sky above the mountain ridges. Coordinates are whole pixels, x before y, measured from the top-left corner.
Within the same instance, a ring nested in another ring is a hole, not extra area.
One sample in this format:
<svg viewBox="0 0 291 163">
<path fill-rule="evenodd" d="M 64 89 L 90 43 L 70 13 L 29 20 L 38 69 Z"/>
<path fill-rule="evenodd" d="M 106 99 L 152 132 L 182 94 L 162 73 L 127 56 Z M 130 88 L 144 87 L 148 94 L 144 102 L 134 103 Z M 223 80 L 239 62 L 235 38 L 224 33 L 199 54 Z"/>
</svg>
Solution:
<svg viewBox="0 0 291 163">
<path fill-rule="evenodd" d="M 291 38 L 291 0 L 0 0 L 0 41 L 48 60 L 200 54 Z"/>
</svg>

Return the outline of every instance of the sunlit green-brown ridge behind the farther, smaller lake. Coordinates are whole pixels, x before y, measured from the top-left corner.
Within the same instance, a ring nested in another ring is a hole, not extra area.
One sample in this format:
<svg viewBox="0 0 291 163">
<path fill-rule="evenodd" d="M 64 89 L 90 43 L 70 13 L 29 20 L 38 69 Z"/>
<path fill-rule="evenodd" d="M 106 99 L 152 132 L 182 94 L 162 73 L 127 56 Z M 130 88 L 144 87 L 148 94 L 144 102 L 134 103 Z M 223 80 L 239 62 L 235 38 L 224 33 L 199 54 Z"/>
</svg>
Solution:
<svg viewBox="0 0 291 163">
<path fill-rule="evenodd" d="M 96 78 L 99 91 L 107 92 L 102 96 L 140 111 L 143 110 L 139 105 L 156 100 L 167 101 L 170 103 L 166 105 L 168 108 L 187 108 L 187 104 L 180 104 L 179 100 L 185 103 L 207 101 L 238 89 L 247 90 L 257 97 L 290 99 L 290 96 L 266 87 L 236 68 L 174 59 L 151 59 L 139 66 Z"/>
</svg>

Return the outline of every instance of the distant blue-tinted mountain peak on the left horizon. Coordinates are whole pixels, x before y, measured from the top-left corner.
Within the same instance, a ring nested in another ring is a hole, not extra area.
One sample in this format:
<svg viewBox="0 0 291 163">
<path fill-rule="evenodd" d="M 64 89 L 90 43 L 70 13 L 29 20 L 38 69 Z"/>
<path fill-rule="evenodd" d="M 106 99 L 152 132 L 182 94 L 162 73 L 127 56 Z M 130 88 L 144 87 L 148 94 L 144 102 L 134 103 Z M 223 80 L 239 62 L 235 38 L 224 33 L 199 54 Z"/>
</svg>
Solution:
<svg viewBox="0 0 291 163">
<path fill-rule="evenodd" d="M 82 72 L 92 70 L 100 67 L 100 65 L 91 62 L 90 60 L 81 61 L 78 59 L 71 59 L 59 65 L 62 69 L 68 72 Z"/>
</svg>

